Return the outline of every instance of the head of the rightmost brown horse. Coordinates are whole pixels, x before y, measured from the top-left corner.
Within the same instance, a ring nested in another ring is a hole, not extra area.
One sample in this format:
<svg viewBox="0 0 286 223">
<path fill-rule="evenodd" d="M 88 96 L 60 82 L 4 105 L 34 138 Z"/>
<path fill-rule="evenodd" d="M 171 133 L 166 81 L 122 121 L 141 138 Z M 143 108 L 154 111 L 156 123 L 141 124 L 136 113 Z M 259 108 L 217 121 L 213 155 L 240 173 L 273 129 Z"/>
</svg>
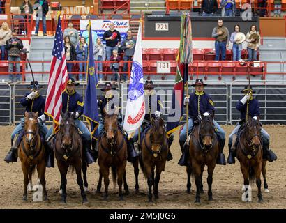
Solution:
<svg viewBox="0 0 286 223">
<path fill-rule="evenodd" d="M 253 147 L 258 148 L 261 144 L 261 125 L 259 118 L 248 118 L 248 122 L 246 123 L 246 134 Z"/>
</svg>

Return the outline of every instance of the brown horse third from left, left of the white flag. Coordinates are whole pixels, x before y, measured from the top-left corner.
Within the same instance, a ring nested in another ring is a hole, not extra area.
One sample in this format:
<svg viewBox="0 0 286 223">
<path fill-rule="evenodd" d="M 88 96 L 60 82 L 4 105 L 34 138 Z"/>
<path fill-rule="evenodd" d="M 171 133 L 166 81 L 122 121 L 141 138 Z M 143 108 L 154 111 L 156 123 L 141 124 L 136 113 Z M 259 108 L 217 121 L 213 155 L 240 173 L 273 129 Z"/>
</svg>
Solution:
<svg viewBox="0 0 286 223">
<path fill-rule="evenodd" d="M 98 165 L 99 165 L 99 180 L 97 192 L 100 192 L 101 182 L 104 178 L 105 194 L 103 198 L 108 197 L 108 185 L 110 183 L 109 174 L 112 167 L 112 180 L 114 187 L 119 186 L 119 199 L 123 199 L 122 183 L 123 175 L 125 175 L 126 160 L 127 160 L 127 144 L 122 132 L 118 128 L 118 110 L 114 114 L 107 114 L 105 109 L 104 116 L 104 132 L 98 142 Z M 126 182 L 126 180 L 125 180 Z M 127 184 L 124 183 L 124 189 L 128 192 Z"/>
</svg>

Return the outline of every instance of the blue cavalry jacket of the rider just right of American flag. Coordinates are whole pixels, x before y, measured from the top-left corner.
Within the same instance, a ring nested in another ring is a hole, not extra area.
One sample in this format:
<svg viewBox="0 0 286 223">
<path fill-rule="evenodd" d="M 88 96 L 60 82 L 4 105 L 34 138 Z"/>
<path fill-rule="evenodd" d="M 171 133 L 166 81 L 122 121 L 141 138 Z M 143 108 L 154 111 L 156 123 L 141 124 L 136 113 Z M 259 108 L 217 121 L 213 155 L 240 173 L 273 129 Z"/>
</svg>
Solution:
<svg viewBox="0 0 286 223">
<path fill-rule="evenodd" d="M 63 107 L 61 111 L 63 112 L 84 112 L 84 102 L 82 100 L 82 95 L 77 93 L 75 90 L 72 93 L 67 91 L 63 92 L 62 95 Z"/>
</svg>

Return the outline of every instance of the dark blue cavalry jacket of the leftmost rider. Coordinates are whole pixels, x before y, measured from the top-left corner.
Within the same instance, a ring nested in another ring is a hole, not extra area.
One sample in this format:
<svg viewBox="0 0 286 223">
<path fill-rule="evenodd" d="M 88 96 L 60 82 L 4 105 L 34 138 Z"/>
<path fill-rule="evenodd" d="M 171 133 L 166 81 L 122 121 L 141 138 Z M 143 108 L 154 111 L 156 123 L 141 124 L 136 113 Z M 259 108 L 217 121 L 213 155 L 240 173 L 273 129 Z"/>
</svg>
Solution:
<svg viewBox="0 0 286 223">
<path fill-rule="evenodd" d="M 27 98 L 30 93 L 26 93 L 24 98 L 20 100 L 20 103 L 26 107 L 26 112 L 38 112 L 38 116 L 41 116 L 45 112 L 45 98 L 42 95 L 38 95 L 38 97 L 30 100 Z"/>
</svg>

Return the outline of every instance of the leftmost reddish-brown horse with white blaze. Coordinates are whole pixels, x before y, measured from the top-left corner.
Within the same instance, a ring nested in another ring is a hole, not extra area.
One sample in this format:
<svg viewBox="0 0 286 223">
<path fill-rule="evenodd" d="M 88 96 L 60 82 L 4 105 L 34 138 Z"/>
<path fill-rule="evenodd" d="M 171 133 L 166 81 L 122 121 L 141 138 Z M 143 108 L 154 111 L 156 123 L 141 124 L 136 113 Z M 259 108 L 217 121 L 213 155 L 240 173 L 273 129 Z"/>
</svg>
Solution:
<svg viewBox="0 0 286 223">
<path fill-rule="evenodd" d="M 45 188 L 45 148 L 40 139 L 37 118 L 38 112 L 25 112 L 24 134 L 18 148 L 24 174 L 24 201 L 27 201 L 27 185 L 29 182 L 31 183 L 33 169 L 35 168 L 37 168 L 40 184 L 43 186 L 44 201 L 48 201 L 47 190 Z"/>
</svg>

